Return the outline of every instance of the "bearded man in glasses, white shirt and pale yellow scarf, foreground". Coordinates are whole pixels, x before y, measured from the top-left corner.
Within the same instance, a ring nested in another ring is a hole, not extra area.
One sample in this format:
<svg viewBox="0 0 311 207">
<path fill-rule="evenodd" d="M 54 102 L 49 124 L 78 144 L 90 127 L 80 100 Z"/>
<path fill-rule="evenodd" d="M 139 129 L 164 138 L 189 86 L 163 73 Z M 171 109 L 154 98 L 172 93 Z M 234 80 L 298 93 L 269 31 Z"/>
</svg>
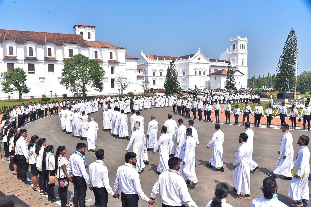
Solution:
<svg viewBox="0 0 311 207">
<path fill-rule="evenodd" d="M 138 207 L 138 195 L 148 202 L 149 205 L 155 203 L 154 200 L 149 199 L 140 184 L 140 179 L 137 170 L 134 168 L 136 165 L 135 152 L 127 152 L 124 156 L 125 164 L 118 167 L 116 179 L 114 182 L 114 193 L 119 197 L 119 187 L 121 188 L 121 202 L 122 207 Z M 114 197 L 115 197 L 114 196 Z"/>
</svg>

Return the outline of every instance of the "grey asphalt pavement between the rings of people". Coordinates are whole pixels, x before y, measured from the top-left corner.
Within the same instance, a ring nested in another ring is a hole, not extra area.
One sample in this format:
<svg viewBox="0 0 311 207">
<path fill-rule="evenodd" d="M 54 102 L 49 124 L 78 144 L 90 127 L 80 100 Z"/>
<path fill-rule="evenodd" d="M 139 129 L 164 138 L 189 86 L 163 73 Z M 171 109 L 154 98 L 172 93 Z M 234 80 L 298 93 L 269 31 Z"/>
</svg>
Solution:
<svg viewBox="0 0 311 207">
<path fill-rule="evenodd" d="M 101 110 L 101 108 L 100 108 Z M 156 120 L 159 122 L 159 127 L 163 126 L 165 120 L 167 119 L 167 114 L 172 113 L 172 107 L 156 109 L 152 108 L 149 110 L 142 110 L 141 115 L 145 118 L 145 129 L 148 126 L 151 115 L 156 116 Z M 98 123 L 100 129 L 98 130 L 97 139 L 97 149 L 102 148 L 105 151 L 104 163 L 108 168 L 109 172 L 109 182 L 110 186 L 113 188 L 115 175 L 117 168 L 124 164 L 124 155 L 126 153 L 125 149 L 128 145 L 128 140 L 122 140 L 110 136 L 110 133 L 103 131 L 102 125 L 102 111 L 89 115 L 94 117 L 95 121 Z M 128 114 L 129 120 L 130 114 Z M 173 114 L 173 119 L 178 120 L 181 118 L 178 115 Z M 183 119 L 184 122 L 188 122 L 188 119 Z M 195 121 L 194 127 L 197 128 L 199 135 L 200 146 L 196 148 L 196 173 L 199 183 L 194 189 L 189 189 L 193 200 L 197 203 L 199 207 L 205 207 L 209 200 L 213 198 L 215 185 L 219 182 L 225 182 L 230 188 L 234 186 L 232 173 L 234 171 L 233 161 L 235 157 L 235 152 L 239 147 L 238 137 L 239 133 L 244 133 L 245 129 L 242 126 L 235 125 L 224 125 L 220 124 L 220 129 L 225 133 L 225 142 L 223 145 L 223 161 L 225 172 L 217 172 L 215 168 L 208 168 L 206 162 L 211 158 L 212 149 L 207 149 L 207 143 L 210 141 L 213 133 L 215 132 L 213 123 L 206 123 L 203 121 Z M 28 139 L 32 135 L 38 135 L 39 137 L 45 137 L 48 140 L 48 145 L 53 145 L 55 149 L 59 145 L 65 145 L 67 148 L 67 158 L 70 157 L 72 153 L 75 152 L 75 147 L 80 139 L 72 136 L 72 134 L 67 135 L 61 132 L 60 120 L 57 115 L 40 119 L 24 127 L 28 130 Z M 128 127 L 130 131 L 130 127 Z M 270 173 L 276 167 L 276 162 L 278 160 L 277 151 L 279 150 L 281 138 L 283 132 L 281 129 L 274 128 L 253 128 L 254 136 L 254 151 L 253 160 L 259 164 L 259 168 L 256 172 L 251 172 L 251 199 L 262 197 L 262 180 L 267 177 L 266 173 Z M 296 144 L 298 137 L 304 133 L 298 130 L 291 130 L 294 137 L 294 155 L 299 150 L 299 146 Z M 158 133 L 160 136 L 160 131 Z M 87 144 L 87 141 L 82 141 Z M 175 143 L 176 146 L 176 143 Z M 132 149 L 132 148 L 131 148 Z M 158 153 L 152 155 L 148 152 L 150 164 L 146 165 L 146 168 L 140 174 L 140 180 L 142 184 L 142 189 L 145 194 L 150 197 L 153 185 L 156 183 L 158 174 L 156 173 L 156 167 L 158 165 Z M 91 151 L 86 152 L 86 162 L 91 164 L 96 160 L 95 153 Z M 30 173 L 27 174 L 30 178 Z M 310 180 L 310 178 L 309 178 Z M 282 176 L 276 179 L 278 184 L 278 196 L 279 200 L 284 202 L 286 205 L 295 205 L 292 198 L 287 196 L 288 186 L 290 181 L 283 179 Z M 121 192 L 120 192 L 121 193 Z M 57 194 L 57 186 L 55 187 L 55 194 Z M 73 197 L 73 185 L 71 184 L 68 188 L 68 198 L 72 202 Z M 86 195 L 86 206 L 94 206 L 94 195 L 92 191 L 88 190 Z M 229 194 L 227 202 L 233 206 L 249 206 L 251 201 L 240 200 L 236 195 Z M 148 204 L 139 199 L 140 206 L 147 206 Z M 114 200 L 111 195 L 109 195 L 109 207 L 121 206 L 121 199 Z M 156 204 L 154 206 L 161 206 L 160 195 L 156 198 Z"/>
</svg>

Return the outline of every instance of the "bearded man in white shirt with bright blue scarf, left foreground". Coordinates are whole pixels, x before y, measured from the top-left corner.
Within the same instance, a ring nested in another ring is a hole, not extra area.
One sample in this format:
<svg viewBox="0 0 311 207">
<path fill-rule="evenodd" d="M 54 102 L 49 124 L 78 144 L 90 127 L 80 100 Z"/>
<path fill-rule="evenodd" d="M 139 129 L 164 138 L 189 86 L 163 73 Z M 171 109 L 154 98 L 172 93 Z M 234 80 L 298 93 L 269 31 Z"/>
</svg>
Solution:
<svg viewBox="0 0 311 207">
<path fill-rule="evenodd" d="M 79 207 L 85 207 L 86 184 L 90 190 L 93 190 L 89 176 L 86 173 L 86 169 L 88 168 L 84 159 L 86 144 L 79 142 L 77 143 L 76 149 L 77 151 L 69 158 L 69 176 L 72 179 L 74 188 L 73 206 L 76 207 L 79 205 Z"/>
</svg>

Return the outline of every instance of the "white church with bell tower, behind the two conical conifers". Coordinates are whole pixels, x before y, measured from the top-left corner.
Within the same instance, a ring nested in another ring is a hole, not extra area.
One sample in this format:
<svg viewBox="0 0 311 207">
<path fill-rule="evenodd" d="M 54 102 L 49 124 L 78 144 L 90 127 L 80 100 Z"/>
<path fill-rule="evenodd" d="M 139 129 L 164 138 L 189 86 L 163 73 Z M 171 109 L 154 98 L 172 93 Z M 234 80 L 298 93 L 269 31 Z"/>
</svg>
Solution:
<svg viewBox="0 0 311 207">
<path fill-rule="evenodd" d="M 230 51 L 219 59 L 209 59 L 200 51 L 184 56 L 146 55 L 141 52 L 137 65 L 148 88 L 163 88 L 170 60 L 174 60 L 180 86 L 187 88 L 224 88 L 229 61 L 232 64 L 237 88 L 247 88 L 247 38 L 230 38 Z"/>
</svg>

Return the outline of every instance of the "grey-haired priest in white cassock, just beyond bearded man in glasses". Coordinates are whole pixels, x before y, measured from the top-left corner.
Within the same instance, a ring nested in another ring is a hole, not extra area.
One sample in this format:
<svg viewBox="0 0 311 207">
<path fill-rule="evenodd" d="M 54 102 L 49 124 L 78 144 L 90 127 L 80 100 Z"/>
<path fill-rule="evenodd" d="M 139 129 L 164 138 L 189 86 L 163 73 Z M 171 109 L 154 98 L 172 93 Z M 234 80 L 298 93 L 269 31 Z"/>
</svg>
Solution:
<svg viewBox="0 0 311 207">
<path fill-rule="evenodd" d="M 147 148 L 145 134 L 139 128 L 139 124 L 134 124 L 135 131 L 131 135 L 130 142 L 128 142 L 128 146 L 126 147 L 126 151 L 128 152 L 130 147 L 133 145 L 133 152 L 135 152 L 137 155 L 137 163 L 135 168 L 138 173 L 142 173 L 142 169 L 145 167 L 143 153 L 147 151 Z"/>
</svg>

